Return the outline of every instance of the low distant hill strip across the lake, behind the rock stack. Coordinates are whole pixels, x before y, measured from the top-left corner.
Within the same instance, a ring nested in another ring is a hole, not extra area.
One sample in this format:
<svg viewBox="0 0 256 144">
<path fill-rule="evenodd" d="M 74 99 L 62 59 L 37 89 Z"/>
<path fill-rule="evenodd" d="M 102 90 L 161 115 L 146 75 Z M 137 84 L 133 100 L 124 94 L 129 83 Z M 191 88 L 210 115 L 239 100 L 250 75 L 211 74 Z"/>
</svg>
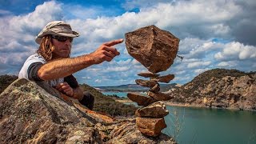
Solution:
<svg viewBox="0 0 256 144">
<path fill-rule="evenodd" d="M 160 89 L 161 91 L 168 91 L 172 88 L 174 88 L 177 84 L 172 83 L 172 84 L 160 84 Z M 97 90 L 100 91 L 122 91 L 122 92 L 127 92 L 127 91 L 148 91 L 150 88 L 148 87 L 143 87 L 139 86 L 137 84 L 128 84 L 128 85 L 120 85 L 120 86 L 94 86 Z"/>
</svg>

